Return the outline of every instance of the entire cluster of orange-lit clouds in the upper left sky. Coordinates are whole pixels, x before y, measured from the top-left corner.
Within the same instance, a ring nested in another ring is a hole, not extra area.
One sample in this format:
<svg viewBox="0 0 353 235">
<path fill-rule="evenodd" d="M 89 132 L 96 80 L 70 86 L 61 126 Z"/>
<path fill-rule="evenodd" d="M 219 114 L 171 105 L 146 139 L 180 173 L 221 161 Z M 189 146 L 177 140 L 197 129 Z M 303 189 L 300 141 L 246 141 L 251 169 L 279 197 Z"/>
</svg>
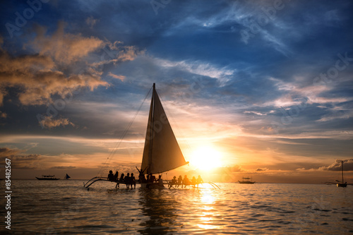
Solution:
<svg viewBox="0 0 353 235">
<path fill-rule="evenodd" d="M 35 105 L 52 103 L 53 95 L 64 98 L 78 88 L 94 90 L 100 85 L 108 86 L 101 78 L 104 64 L 131 61 L 138 54 L 143 54 L 136 47 L 120 45 L 122 42 L 103 42 L 96 37 L 65 33 L 64 26 L 64 23 L 59 23 L 52 35 L 47 35 L 47 30 L 42 26 L 35 27 L 35 39 L 25 47 L 35 49 L 37 54 L 11 56 L 1 49 L 3 39 L 0 37 L 0 106 L 4 103 L 8 88 L 13 87 L 18 88 L 21 104 Z M 101 49 L 104 49 L 102 56 L 95 56 L 100 61 L 91 61 L 91 53 Z M 112 73 L 109 76 L 122 81 L 125 78 Z M 48 125 L 52 126 L 50 123 Z"/>
</svg>

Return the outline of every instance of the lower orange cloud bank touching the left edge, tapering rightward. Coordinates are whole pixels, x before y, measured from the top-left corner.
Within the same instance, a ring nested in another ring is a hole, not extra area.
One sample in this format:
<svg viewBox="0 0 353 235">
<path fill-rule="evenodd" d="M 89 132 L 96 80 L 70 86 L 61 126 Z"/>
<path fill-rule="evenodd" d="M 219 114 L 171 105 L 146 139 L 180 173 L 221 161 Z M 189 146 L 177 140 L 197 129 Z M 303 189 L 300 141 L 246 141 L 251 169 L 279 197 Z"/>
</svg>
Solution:
<svg viewBox="0 0 353 235">
<path fill-rule="evenodd" d="M 56 70 L 54 61 L 44 55 L 11 57 L 0 52 L 0 104 L 6 96 L 6 88 L 20 88 L 18 99 L 21 104 L 47 104 L 52 95 L 65 97 L 73 90 L 88 87 L 91 90 L 98 85 L 107 85 L 100 80 L 100 74 L 83 73 L 66 75 Z"/>
</svg>

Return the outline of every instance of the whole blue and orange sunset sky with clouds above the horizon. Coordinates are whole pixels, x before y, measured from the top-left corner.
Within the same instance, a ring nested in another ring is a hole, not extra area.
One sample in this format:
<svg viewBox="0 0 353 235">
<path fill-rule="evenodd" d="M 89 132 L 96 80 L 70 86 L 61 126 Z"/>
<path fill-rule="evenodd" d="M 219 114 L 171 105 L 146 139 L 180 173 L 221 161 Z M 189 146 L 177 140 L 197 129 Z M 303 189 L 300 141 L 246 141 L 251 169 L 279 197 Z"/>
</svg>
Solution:
<svg viewBox="0 0 353 235">
<path fill-rule="evenodd" d="M 323 183 L 345 160 L 353 183 L 352 1 L 0 6 L 1 172 L 89 179 L 112 150 L 136 172 L 156 83 L 191 162 L 169 178 Z"/>
</svg>

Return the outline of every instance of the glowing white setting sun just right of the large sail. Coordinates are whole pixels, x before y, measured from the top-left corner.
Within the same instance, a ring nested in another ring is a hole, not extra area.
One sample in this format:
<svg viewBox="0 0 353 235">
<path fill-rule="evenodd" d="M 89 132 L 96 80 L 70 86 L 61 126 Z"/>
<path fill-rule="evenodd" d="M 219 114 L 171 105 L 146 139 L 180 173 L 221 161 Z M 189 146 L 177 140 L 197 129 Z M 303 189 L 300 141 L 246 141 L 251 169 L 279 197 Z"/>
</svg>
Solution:
<svg viewBox="0 0 353 235">
<path fill-rule="evenodd" d="M 215 147 L 201 146 L 191 153 L 190 164 L 201 170 L 210 170 L 222 165 L 221 153 Z"/>
</svg>

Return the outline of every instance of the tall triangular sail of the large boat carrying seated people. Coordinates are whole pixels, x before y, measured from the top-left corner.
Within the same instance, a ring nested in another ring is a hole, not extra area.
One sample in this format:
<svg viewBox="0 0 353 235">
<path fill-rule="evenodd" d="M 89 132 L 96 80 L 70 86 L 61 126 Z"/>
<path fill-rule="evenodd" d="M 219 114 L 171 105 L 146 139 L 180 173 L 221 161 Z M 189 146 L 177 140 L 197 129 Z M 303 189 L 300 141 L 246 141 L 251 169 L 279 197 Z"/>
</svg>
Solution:
<svg viewBox="0 0 353 235">
<path fill-rule="evenodd" d="M 154 88 L 141 170 L 146 169 L 145 174 L 162 173 L 186 163 Z"/>
</svg>

